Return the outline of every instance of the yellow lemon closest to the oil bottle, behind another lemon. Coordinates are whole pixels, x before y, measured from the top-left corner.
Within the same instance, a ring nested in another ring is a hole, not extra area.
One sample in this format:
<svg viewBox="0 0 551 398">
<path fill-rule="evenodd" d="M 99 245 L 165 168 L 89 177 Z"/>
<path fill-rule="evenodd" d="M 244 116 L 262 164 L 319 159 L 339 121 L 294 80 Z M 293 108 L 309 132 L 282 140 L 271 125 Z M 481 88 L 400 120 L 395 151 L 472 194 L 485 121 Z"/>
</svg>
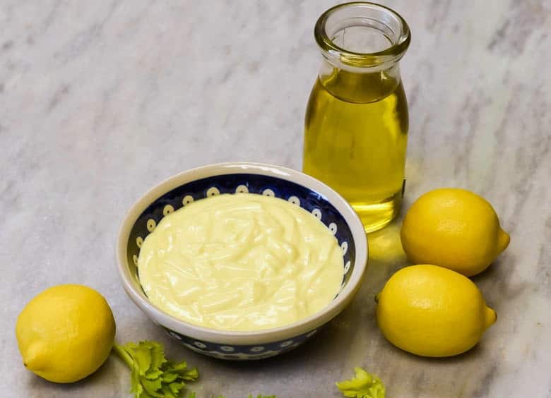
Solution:
<svg viewBox="0 0 551 398">
<path fill-rule="evenodd" d="M 490 203 L 457 188 L 422 195 L 405 215 L 401 240 L 414 264 L 434 264 L 466 276 L 485 270 L 509 245 Z"/>
</svg>

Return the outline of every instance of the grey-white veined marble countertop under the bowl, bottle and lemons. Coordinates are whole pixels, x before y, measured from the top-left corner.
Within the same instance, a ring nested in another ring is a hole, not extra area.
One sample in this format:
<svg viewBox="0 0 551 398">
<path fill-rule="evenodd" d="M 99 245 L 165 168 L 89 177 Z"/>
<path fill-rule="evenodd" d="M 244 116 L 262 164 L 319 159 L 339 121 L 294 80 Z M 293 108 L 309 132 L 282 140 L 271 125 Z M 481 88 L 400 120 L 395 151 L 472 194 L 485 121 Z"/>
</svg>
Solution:
<svg viewBox="0 0 551 398">
<path fill-rule="evenodd" d="M 312 28 L 333 1 L 20 1 L 0 4 L 0 395 L 130 397 L 110 358 L 54 385 L 23 368 L 14 325 L 54 284 L 100 291 L 117 340 L 157 339 L 201 371 L 200 398 L 339 397 L 354 366 L 388 397 L 551 397 L 551 4 L 388 1 L 413 31 L 405 208 L 440 186 L 496 208 L 511 245 L 475 277 L 499 314 L 467 354 L 395 349 L 374 294 L 407 264 L 400 220 L 369 236 L 360 294 L 280 358 L 218 361 L 180 348 L 126 297 L 114 241 L 129 205 L 191 167 L 254 160 L 300 169 L 304 108 L 320 64 Z"/>
</svg>

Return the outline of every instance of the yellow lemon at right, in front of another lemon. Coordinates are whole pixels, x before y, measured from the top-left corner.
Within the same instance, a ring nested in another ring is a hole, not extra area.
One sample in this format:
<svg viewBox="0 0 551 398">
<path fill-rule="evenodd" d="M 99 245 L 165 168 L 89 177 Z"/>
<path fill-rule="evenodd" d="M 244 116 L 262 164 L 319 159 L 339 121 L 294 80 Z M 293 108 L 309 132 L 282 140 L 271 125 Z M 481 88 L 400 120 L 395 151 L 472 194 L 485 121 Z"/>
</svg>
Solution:
<svg viewBox="0 0 551 398">
<path fill-rule="evenodd" d="M 384 337 L 421 356 L 467 351 L 496 318 L 468 277 L 437 265 L 399 270 L 378 296 L 377 323 Z"/>
</svg>

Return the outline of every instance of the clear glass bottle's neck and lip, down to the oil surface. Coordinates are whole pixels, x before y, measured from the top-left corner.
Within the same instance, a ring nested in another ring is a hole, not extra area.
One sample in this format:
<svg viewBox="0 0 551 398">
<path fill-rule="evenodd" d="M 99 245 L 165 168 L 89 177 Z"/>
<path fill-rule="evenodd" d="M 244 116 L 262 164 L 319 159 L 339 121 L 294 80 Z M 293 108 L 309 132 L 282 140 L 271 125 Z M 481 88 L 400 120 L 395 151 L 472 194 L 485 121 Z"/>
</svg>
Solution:
<svg viewBox="0 0 551 398">
<path fill-rule="evenodd" d="M 324 56 L 319 82 L 347 102 L 375 102 L 401 83 L 398 61 L 410 44 L 408 24 L 379 4 L 339 4 L 323 13 L 314 37 Z"/>
</svg>

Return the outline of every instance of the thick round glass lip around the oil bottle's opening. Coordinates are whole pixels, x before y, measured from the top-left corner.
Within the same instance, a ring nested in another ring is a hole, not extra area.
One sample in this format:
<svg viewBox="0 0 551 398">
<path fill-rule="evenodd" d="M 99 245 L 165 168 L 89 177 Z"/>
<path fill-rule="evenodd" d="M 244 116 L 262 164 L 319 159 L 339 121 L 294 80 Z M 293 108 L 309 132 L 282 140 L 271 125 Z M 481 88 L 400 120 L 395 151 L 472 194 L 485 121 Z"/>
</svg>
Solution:
<svg viewBox="0 0 551 398">
<path fill-rule="evenodd" d="M 351 7 L 370 8 L 372 10 L 382 11 L 390 18 L 394 18 L 398 21 L 399 31 L 393 31 L 396 37 L 393 37 L 393 40 L 391 40 L 391 45 L 377 52 L 353 52 L 335 44 L 327 34 L 326 23 L 334 13 L 342 11 L 344 8 Z M 314 27 L 314 37 L 328 61 L 351 66 L 352 68 L 374 68 L 384 64 L 395 64 L 402 58 L 403 54 L 405 54 L 411 41 L 408 23 L 405 22 L 405 19 L 403 19 L 400 14 L 389 7 L 367 1 L 352 1 L 329 8 L 318 18 Z"/>
</svg>

